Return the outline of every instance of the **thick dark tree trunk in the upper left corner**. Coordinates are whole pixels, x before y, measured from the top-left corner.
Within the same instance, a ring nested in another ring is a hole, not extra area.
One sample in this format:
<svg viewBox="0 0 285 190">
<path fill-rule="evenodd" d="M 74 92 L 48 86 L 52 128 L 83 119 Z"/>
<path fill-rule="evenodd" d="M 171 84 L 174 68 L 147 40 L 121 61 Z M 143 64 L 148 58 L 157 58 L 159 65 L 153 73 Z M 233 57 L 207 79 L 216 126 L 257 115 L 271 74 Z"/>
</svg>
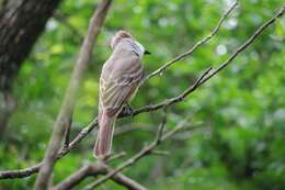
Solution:
<svg viewBox="0 0 285 190">
<path fill-rule="evenodd" d="M 47 20 L 61 0 L 0 1 L 0 131 L 7 125 L 15 103 L 11 103 L 13 81 L 32 51 Z"/>
</svg>

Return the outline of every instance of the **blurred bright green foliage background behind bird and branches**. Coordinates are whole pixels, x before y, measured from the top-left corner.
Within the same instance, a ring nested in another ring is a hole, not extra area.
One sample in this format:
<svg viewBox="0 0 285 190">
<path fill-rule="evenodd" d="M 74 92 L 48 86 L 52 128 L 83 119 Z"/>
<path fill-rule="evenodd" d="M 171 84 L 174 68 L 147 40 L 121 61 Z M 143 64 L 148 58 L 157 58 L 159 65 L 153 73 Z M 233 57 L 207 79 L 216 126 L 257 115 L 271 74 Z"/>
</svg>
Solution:
<svg viewBox="0 0 285 190">
<path fill-rule="evenodd" d="M 142 59 L 151 72 L 207 35 L 230 0 L 115 0 L 89 63 L 73 114 L 73 137 L 96 115 L 99 75 L 111 55 L 109 42 L 129 31 L 152 54 Z M 42 160 L 68 86 L 88 21 L 98 1 L 65 0 L 46 24 L 13 86 L 15 109 L 1 132 L 0 169 L 20 169 Z M 134 108 L 171 98 L 208 66 L 217 67 L 283 5 L 280 0 L 243 0 L 220 32 L 193 56 L 148 80 Z M 285 189 L 285 18 L 270 26 L 182 103 L 169 109 L 166 130 L 190 118 L 195 126 L 163 143 L 167 156 L 147 156 L 124 174 L 153 190 Z M 126 157 L 151 142 L 161 111 L 117 121 L 113 150 Z M 125 130 L 127 128 L 127 130 Z M 95 134 L 56 164 L 54 182 L 93 161 Z M 122 158 L 123 160 L 126 158 Z M 116 166 L 121 159 L 112 163 Z M 0 180 L 1 190 L 29 190 L 35 176 Z M 83 185 L 92 181 L 83 181 Z M 109 181 L 99 189 L 121 190 Z"/>
</svg>

